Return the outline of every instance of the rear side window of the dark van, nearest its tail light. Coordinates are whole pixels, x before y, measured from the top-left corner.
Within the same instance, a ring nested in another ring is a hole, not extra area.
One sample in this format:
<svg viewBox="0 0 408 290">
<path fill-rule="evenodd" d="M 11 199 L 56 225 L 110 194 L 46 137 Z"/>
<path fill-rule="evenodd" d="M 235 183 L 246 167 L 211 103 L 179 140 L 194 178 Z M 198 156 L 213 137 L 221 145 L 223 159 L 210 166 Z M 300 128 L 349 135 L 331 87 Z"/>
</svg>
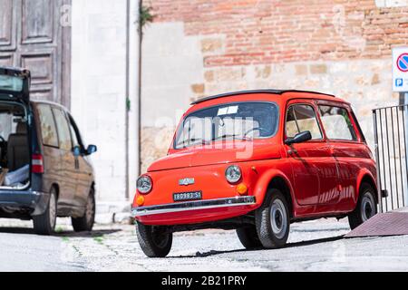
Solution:
<svg viewBox="0 0 408 290">
<path fill-rule="evenodd" d="M 58 147 L 58 135 L 53 121 L 53 111 L 46 104 L 38 105 L 38 113 L 40 115 L 41 134 L 44 146 Z"/>
</svg>

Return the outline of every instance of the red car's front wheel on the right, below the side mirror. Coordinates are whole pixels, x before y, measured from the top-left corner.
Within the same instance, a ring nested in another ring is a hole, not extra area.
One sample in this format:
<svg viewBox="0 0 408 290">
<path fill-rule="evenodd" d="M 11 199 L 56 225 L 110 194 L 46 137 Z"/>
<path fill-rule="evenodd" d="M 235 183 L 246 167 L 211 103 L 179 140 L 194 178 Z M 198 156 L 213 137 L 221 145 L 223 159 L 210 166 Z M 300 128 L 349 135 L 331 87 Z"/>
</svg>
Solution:
<svg viewBox="0 0 408 290">
<path fill-rule="evenodd" d="M 278 189 L 267 191 L 265 202 L 255 214 L 257 237 L 263 247 L 279 248 L 287 244 L 290 214 L 287 199 Z"/>
</svg>

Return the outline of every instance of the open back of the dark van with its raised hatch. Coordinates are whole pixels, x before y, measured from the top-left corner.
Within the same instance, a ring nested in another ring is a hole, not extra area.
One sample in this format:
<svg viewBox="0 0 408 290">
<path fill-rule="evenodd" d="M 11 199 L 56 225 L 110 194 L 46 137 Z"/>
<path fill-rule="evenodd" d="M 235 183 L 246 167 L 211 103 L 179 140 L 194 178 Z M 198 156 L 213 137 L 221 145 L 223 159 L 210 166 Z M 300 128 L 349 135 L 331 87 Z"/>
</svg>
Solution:
<svg viewBox="0 0 408 290">
<path fill-rule="evenodd" d="M 30 72 L 0 67 L 0 189 L 25 189 L 30 183 L 28 105 Z"/>
</svg>

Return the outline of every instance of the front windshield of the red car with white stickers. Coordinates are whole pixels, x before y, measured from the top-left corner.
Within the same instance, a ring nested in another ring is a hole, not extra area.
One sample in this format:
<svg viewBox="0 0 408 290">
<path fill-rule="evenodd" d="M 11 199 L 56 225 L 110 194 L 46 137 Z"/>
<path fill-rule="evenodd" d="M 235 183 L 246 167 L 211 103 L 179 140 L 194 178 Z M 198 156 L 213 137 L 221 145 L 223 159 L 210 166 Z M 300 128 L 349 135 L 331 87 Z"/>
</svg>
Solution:
<svg viewBox="0 0 408 290">
<path fill-rule="evenodd" d="M 253 140 L 276 134 L 278 110 L 275 103 L 239 102 L 195 111 L 184 119 L 175 149 L 218 140 Z"/>
</svg>

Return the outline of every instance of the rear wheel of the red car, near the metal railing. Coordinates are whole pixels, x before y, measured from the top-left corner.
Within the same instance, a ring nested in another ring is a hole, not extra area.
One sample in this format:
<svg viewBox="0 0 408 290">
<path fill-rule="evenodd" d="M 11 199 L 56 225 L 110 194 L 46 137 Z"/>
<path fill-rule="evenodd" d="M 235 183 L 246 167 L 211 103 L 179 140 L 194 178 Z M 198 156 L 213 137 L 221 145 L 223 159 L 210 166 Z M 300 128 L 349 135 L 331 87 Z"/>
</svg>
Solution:
<svg viewBox="0 0 408 290">
<path fill-rule="evenodd" d="M 370 184 L 363 183 L 360 187 L 357 207 L 348 216 L 350 228 L 353 230 L 356 227 L 360 227 L 368 219 L 373 218 L 377 212 L 375 190 Z"/>
</svg>

